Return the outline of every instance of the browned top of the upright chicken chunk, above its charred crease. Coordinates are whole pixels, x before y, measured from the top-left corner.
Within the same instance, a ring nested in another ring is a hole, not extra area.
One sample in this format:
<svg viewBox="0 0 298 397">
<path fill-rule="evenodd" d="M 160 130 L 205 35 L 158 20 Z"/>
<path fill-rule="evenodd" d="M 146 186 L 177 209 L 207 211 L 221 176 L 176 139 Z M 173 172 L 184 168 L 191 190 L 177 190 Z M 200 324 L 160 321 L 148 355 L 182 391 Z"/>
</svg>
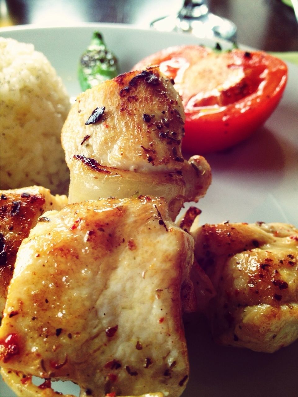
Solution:
<svg viewBox="0 0 298 397">
<path fill-rule="evenodd" d="M 95 109 L 99 116 L 90 120 Z M 68 164 L 81 154 L 121 170 L 174 171 L 183 166 L 183 135 L 181 99 L 172 82 L 150 68 L 80 94 L 64 124 L 62 145 Z"/>
</svg>

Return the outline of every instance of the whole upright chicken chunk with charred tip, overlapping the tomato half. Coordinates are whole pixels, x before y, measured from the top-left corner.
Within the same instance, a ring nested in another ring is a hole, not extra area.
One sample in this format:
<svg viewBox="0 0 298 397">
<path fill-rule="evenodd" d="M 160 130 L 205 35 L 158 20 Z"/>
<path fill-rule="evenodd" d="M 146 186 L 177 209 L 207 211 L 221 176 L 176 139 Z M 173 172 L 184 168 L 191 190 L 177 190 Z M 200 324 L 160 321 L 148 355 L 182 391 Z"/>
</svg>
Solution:
<svg viewBox="0 0 298 397">
<path fill-rule="evenodd" d="M 172 220 L 211 183 L 202 156 L 181 153 L 184 108 L 157 67 L 122 74 L 77 97 L 62 129 L 70 202 L 101 197 L 166 198 Z"/>
</svg>

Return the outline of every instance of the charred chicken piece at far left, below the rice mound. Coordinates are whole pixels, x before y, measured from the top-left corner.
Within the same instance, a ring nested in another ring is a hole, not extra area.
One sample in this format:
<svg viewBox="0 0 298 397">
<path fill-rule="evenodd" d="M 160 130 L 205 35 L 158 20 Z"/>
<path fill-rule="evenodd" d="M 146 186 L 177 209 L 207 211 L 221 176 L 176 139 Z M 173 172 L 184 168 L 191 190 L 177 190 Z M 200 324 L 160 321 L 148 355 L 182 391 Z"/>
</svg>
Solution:
<svg viewBox="0 0 298 397">
<path fill-rule="evenodd" d="M 66 196 L 53 196 L 41 186 L 0 191 L 0 317 L 21 241 L 45 211 L 66 204 Z"/>
</svg>

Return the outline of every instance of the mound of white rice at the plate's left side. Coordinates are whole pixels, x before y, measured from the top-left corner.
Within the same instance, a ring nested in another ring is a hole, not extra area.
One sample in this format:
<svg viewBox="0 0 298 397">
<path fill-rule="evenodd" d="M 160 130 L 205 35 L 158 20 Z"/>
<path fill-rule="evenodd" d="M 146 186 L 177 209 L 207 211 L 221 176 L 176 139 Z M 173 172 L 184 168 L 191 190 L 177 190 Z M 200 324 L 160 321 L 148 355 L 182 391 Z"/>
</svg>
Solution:
<svg viewBox="0 0 298 397">
<path fill-rule="evenodd" d="M 0 189 L 41 185 L 67 193 L 61 129 L 70 98 L 33 44 L 0 37 Z"/>
</svg>

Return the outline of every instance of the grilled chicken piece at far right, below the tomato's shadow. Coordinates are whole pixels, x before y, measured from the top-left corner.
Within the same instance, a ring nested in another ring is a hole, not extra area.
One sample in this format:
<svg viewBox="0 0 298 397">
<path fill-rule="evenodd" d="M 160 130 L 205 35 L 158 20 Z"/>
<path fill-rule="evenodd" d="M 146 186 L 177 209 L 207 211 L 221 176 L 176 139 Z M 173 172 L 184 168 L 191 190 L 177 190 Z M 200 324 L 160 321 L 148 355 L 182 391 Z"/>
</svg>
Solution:
<svg viewBox="0 0 298 397">
<path fill-rule="evenodd" d="M 286 224 L 193 227 L 195 257 L 217 295 L 216 341 L 273 353 L 298 338 L 298 230 Z"/>
</svg>

